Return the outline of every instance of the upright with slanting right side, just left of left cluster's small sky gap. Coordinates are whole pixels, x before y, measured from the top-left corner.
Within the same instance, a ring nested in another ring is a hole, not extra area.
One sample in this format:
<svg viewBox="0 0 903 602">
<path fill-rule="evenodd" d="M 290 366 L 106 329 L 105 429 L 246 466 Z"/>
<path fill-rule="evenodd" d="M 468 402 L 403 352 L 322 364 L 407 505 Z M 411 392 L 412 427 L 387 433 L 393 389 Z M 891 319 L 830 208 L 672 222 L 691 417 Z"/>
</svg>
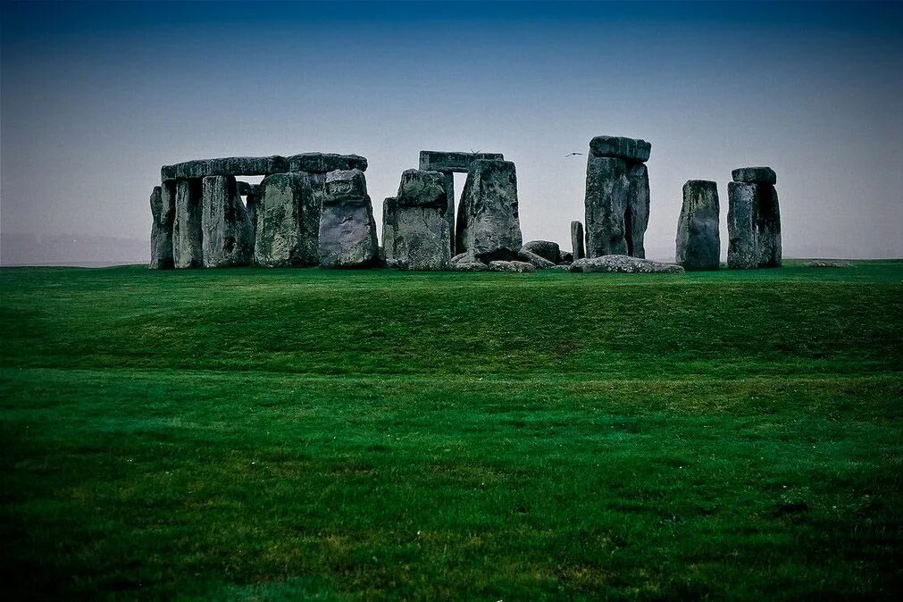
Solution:
<svg viewBox="0 0 903 602">
<path fill-rule="evenodd" d="M 235 176 L 208 176 L 201 187 L 204 267 L 251 264 L 254 228 L 238 194 Z"/>
</svg>

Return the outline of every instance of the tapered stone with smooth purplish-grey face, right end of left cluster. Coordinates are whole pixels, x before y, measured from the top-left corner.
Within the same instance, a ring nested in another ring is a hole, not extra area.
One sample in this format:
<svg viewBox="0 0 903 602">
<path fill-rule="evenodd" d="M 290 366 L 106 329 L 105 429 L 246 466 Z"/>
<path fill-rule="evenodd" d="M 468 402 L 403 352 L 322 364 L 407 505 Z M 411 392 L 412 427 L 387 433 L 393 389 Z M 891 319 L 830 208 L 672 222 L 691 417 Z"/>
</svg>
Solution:
<svg viewBox="0 0 903 602">
<path fill-rule="evenodd" d="M 320 218 L 321 266 L 369 267 L 376 261 L 377 223 L 363 171 L 330 171 Z"/>
</svg>

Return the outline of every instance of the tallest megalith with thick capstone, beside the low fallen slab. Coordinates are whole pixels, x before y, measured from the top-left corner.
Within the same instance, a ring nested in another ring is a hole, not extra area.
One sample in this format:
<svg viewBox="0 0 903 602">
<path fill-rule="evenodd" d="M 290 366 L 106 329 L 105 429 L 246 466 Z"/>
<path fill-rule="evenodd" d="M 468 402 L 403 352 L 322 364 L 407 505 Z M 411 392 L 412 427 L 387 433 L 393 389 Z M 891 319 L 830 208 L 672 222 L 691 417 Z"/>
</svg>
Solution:
<svg viewBox="0 0 903 602">
<path fill-rule="evenodd" d="M 586 255 L 644 258 L 649 224 L 652 144 L 621 136 L 596 136 L 586 165 Z"/>
</svg>

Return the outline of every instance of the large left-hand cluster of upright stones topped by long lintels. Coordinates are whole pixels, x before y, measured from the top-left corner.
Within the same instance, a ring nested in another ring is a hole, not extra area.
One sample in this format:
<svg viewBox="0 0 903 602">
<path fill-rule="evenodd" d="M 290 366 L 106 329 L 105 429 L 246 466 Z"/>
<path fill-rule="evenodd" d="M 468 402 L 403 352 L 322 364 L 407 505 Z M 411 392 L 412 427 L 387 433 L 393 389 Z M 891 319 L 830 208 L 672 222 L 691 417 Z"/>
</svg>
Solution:
<svg viewBox="0 0 903 602">
<path fill-rule="evenodd" d="M 164 166 L 151 195 L 151 267 L 372 264 L 366 169 L 364 157 L 324 153 Z M 236 180 L 248 175 L 265 178 Z"/>
</svg>

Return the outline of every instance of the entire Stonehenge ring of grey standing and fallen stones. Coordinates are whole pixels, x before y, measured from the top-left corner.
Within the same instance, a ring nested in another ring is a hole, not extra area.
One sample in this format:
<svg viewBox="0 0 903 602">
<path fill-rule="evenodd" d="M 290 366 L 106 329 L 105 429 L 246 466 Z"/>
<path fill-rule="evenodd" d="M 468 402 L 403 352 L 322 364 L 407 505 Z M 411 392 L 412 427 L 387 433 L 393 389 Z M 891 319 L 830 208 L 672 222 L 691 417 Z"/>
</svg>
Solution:
<svg viewBox="0 0 903 602">
<path fill-rule="evenodd" d="M 517 170 L 501 153 L 421 151 L 396 196 L 383 202 L 382 246 L 357 154 L 226 157 L 164 165 L 150 196 L 152 269 L 368 268 L 410 271 L 681 273 L 716 270 L 721 235 L 713 181 L 686 181 L 676 264 L 648 262 L 652 145 L 599 135 L 590 141 L 585 222 L 571 222 L 572 251 L 523 242 Z M 579 154 L 579 153 L 576 153 Z M 455 207 L 453 174 L 467 180 Z M 259 184 L 238 180 L 262 178 Z M 775 171 L 732 171 L 728 266 L 781 264 Z"/>
</svg>

